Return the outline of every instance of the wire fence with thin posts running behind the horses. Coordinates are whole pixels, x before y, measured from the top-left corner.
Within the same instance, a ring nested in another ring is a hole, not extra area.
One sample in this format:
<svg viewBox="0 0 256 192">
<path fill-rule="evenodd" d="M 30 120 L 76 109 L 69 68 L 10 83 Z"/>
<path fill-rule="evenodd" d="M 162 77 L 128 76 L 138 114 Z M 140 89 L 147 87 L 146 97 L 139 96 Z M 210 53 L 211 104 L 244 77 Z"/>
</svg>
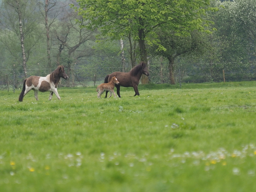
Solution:
<svg viewBox="0 0 256 192">
<path fill-rule="evenodd" d="M 62 80 L 59 87 L 89 87 L 104 82 L 107 74 L 122 71 L 123 67 L 78 67 L 65 69 L 68 80 Z M 130 69 L 126 68 L 126 71 Z M 173 68 L 175 83 L 203 83 L 221 81 L 256 80 L 256 62 L 176 64 Z M 27 77 L 47 76 L 54 69 L 27 69 Z M 170 83 L 168 64 L 150 64 L 149 81 Z M 14 91 L 21 89 L 24 81 L 23 69 L 0 69 L 0 89 Z"/>
</svg>

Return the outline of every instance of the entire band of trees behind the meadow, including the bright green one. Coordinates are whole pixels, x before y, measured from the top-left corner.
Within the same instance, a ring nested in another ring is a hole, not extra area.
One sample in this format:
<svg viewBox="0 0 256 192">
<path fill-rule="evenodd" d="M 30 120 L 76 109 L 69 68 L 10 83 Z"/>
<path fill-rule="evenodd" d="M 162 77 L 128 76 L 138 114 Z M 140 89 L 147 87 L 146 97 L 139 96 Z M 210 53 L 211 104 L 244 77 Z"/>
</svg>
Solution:
<svg viewBox="0 0 256 192">
<path fill-rule="evenodd" d="M 0 87 L 14 70 L 21 85 L 26 68 L 44 76 L 58 64 L 65 86 L 86 85 L 141 60 L 152 83 L 177 82 L 178 66 L 183 82 L 222 81 L 223 70 L 226 80 L 254 80 L 255 8 L 255 0 L 3 0 Z"/>
</svg>

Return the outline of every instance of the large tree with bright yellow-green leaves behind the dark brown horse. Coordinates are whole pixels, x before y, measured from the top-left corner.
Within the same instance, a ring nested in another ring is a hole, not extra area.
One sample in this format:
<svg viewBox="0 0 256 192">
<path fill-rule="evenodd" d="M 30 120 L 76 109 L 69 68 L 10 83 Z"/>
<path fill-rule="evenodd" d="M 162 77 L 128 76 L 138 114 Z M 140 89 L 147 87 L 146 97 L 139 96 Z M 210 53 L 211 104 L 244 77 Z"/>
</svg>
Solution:
<svg viewBox="0 0 256 192">
<path fill-rule="evenodd" d="M 141 61 L 147 61 L 147 44 L 159 43 L 155 28 L 173 30 L 175 35 L 187 34 L 195 29 L 204 31 L 208 24 L 202 15 L 208 9 L 210 0 L 166 1 L 166 0 L 78 0 L 76 10 L 91 21 L 88 28 L 98 28 L 102 35 L 120 39 L 131 34 L 138 41 Z"/>
</svg>

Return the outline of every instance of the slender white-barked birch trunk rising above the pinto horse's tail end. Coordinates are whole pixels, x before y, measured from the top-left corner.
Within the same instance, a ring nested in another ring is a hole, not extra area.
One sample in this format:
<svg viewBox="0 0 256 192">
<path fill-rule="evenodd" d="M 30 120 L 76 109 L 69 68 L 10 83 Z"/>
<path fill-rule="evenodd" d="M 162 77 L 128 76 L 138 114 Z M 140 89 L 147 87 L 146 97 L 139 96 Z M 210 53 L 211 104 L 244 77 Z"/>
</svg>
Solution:
<svg viewBox="0 0 256 192">
<path fill-rule="evenodd" d="M 26 53 L 25 53 L 25 47 L 24 47 L 24 34 L 22 29 L 22 13 L 19 7 L 19 0 L 17 1 L 17 13 L 19 15 L 19 32 L 21 35 L 21 50 L 22 50 L 22 66 L 24 71 L 24 77 L 27 78 L 27 59 L 26 59 Z"/>
</svg>

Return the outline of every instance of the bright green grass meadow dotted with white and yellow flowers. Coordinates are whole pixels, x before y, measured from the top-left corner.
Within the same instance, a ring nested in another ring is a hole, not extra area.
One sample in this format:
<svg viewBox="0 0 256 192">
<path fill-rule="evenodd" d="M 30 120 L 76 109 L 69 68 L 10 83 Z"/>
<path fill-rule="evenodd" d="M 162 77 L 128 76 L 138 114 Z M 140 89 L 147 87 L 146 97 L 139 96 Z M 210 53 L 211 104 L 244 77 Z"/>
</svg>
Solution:
<svg viewBox="0 0 256 192">
<path fill-rule="evenodd" d="M 95 89 L 0 91 L 1 192 L 256 191 L 255 81 Z"/>
</svg>

